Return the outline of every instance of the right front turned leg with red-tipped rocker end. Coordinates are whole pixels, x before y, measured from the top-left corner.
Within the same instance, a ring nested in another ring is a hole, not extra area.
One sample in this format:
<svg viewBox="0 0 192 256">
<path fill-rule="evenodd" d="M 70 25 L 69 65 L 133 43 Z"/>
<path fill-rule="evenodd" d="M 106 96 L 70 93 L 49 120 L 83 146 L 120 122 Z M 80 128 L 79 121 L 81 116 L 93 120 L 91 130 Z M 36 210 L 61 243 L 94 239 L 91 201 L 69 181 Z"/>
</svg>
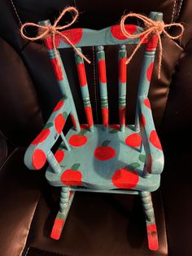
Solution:
<svg viewBox="0 0 192 256">
<path fill-rule="evenodd" d="M 139 192 L 142 198 L 143 210 L 146 215 L 146 232 L 148 238 L 148 246 L 151 250 L 158 250 L 158 234 L 155 223 L 155 214 L 151 199 L 151 192 Z"/>
</svg>

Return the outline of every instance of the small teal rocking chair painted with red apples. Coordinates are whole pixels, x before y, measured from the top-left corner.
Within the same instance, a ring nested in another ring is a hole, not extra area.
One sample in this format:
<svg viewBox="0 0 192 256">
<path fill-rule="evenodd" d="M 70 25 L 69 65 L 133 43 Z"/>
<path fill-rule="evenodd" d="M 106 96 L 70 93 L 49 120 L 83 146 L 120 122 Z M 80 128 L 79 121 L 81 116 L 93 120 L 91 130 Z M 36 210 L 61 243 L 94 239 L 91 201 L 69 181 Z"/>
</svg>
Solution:
<svg viewBox="0 0 192 256">
<path fill-rule="evenodd" d="M 162 13 L 151 12 L 153 20 L 162 20 Z M 50 25 L 49 20 L 39 24 Z M 126 24 L 129 33 L 141 33 L 142 28 Z M 28 147 L 24 162 L 29 169 L 41 169 L 49 163 L 46 179 L 50 185 L 61 187 L 59 212 L 51 232 L 53 239 L 59 239 L 63 225 L 76 191 L 138 194 L 141 196 L 146 215 L 146 229 L 149 248 L 158 249 L 158 236 L 151 192 L 159 188 L 160 174 L 164 167 L 164 154 L 155 131 L 151 104 L 147 98 L 151 83 L 151 73 L 158 43 L 156 35 L 145 40 L 142 71 L 137 92 L 135 124 L 125 125 L 126 109 L 126 45 L 137 44 L 141 38 L 126 38 L 120 25 L 99 31 L 91 29 L 68 29 L 62 32 L 81 51 L 81 46 L 95 46 L 98 64 L 98 81 L 103 124 L 93 121 L 89 101 L 89 89 L 84 60 L 75 51 L 76 68 L 81 86 L 87 124 L 80 124 L 72 92 L 68 84 L 62 60 L 55 54 L 53 40 L 44 40 L 50 62 L 53 66 L 63 99 L 55 106 L 53 113 L 41 133 Z M 72 47 L 55 35 L 57 49 Z M 118 56 L 114 60 L 119 69 L 119 119 L 118 125 L 108 123 L 107 76 L 104 46 L 116 45 Z M 67 118 L 73 127 L 63 135 Z M 62 139 L 55 154 L 51 151 L 55 142 Z"/>
</svg>

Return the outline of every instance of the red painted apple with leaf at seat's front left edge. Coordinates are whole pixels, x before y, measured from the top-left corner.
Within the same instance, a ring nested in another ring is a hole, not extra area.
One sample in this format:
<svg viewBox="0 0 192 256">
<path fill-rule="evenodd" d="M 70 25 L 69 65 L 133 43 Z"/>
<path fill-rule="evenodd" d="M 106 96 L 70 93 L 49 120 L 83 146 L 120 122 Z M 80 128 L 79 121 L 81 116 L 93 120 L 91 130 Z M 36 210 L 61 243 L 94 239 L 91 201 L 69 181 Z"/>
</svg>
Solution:
<svg viewBox="0 0 192 256">
<path fill-rule="evenodd" d="M 79 169 L 80 164 L 76 163 L 71 169 L 65 170 L 61 175 L 61 183 L 65 186 L 81 186 L 82 174 Z"/>
</svg>

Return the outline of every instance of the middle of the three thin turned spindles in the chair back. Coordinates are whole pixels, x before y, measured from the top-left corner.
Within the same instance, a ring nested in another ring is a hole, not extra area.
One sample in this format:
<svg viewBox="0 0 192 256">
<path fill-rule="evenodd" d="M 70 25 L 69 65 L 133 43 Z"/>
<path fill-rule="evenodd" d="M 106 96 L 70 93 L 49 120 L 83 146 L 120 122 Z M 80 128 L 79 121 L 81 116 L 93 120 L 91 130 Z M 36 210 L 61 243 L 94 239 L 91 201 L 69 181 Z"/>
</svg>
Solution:
<svg viewBox="0 0 192 256">
<path fill-rule="evenodd" d="M 102 108 L 103 126 L 107 127 L 109 123 L 108 99 L 107 99 L 107 76 L 105 52 L 103 46 L 97 46 L 97 62 L 98 62 L 98 81 Z"/>
</svg>

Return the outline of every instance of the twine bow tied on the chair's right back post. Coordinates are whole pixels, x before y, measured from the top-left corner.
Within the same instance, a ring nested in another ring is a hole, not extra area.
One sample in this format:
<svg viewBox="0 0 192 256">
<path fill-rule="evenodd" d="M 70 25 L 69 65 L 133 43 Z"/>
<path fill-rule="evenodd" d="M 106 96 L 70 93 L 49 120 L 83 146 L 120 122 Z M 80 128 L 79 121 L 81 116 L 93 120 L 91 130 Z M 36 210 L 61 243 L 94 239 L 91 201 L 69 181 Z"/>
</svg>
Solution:
<svg viewBox="0 0 192 256">
<path fill-rule="evenodd" d="M 142 31 L 142 33 L 137 33 L 137 34 L 130 34 L 126 29 L 125 29 L 125 20 L 127 20 L 130 17 L 134 17 L 137 19 L 140 19 L 144 22 L 145 24 L 145 29 Z M 165 29 L 169 27 L 179 27 L 181 29 L 181 33 L 178 33 L 177 36 L 171 36 Z M 129 13 L 127 15 L 124 15 L 121 20 L 120 20 L 120 29 L 121 32 L 124 34 L 126 38 L 141 38 L 139 42 L 137 43 L 136 48 L 134 49 L 133 53 L 130 55 L 128 60 L 126 61 L 126 64 L 129 64 L 129 62 L 133 59 L 133 55 L 135 55 L 136 51 L 138 48 L 142 45 L 142 42 L 145 41 L 145 39 L 149 38 L 150 36 L 156 34 L 158 37 L 158 42 L 159 42 L 159 62 L 158 62 L 158 79 L 160 78 L 160 68 L 161 68 L 161 63 L 162 63 L 162 52 L 163 52 L 163 46 L 161 42 L 160 35 L 164 33 L 164 35 L 169 38 L 169 39 L 181 39 L 181 36 L 184 32 L 184 27 L 181 23 L 171 23 L 171 24 L 164 24 L 163 20 L 151 20 L 150 18 L 146 17 L 145 15 L 137 14 L 137 13 Z"/>
</svg>

